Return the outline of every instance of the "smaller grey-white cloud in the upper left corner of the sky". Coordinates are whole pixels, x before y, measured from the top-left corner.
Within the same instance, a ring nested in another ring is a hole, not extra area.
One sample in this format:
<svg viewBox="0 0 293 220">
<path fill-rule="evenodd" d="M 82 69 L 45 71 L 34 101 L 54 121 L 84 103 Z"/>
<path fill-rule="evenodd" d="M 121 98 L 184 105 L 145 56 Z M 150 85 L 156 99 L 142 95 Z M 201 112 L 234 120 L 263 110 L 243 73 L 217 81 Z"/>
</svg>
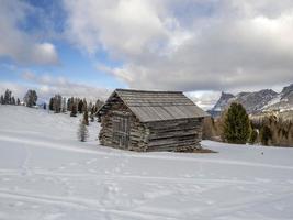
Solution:
<svg viewBox="0 0 293 220">
<path fill-rule="evenodd" d="M 16 0 L 1 1 L 0 57 L 9 57 L 21 64 L 56 65 L 58 55 L 48 42 L 37 42 L 22 28 L 27 14 L 34 9 Z"/>
</svg>

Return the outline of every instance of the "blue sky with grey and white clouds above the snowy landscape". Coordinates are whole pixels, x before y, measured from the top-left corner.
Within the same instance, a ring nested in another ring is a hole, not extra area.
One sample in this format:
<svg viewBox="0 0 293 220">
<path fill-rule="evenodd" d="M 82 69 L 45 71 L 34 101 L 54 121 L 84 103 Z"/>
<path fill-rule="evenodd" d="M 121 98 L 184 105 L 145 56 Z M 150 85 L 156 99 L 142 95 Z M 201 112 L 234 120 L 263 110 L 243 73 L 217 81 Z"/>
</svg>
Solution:
<svg viewBox="0 0 293 220">
<path fill-rule="evenodd" d="M 292 0 L 0 0 L 0 91 L 106 99 L 115 88 L 221 91 L 293 82 Z"/>
</svg>

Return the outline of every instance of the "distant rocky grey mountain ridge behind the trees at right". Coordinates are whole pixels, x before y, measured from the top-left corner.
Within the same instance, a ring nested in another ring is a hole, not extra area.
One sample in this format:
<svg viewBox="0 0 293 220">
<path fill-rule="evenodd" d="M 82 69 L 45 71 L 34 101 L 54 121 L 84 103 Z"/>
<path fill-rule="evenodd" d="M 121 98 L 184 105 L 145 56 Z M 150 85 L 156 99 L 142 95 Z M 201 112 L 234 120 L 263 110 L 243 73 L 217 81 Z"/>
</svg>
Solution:
<svg viewBox="0 0 293 220">
<path fill-rule="evenodd" d="M 218 117 L 232 102 L 240 102 L 248 113 L 268 111 L 293 110 L 293 84 L 282 89 L 280 94 L 272 89 L 262 89 L 252 92 L 233 94 L 222 92 L 215 106 L 209 110 L 213 117 Z"/>
</svg>

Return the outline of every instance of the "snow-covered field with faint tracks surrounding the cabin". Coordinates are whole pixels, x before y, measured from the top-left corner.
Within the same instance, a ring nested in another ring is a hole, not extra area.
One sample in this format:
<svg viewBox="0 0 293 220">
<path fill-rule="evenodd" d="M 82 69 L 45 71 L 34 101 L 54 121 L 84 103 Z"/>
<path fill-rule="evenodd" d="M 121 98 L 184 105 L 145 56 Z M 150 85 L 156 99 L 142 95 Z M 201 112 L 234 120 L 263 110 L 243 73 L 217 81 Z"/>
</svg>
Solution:
<svg viewBox="0 0 293 220">
<path fill-rule="evenodd" d="M 293 219 L 293 148 L 135 153 L 76 139 L 78 119 L 0 106 L 0 219 Z M 262 154 L 263 152 L 263 154 Z"/>
</svg>

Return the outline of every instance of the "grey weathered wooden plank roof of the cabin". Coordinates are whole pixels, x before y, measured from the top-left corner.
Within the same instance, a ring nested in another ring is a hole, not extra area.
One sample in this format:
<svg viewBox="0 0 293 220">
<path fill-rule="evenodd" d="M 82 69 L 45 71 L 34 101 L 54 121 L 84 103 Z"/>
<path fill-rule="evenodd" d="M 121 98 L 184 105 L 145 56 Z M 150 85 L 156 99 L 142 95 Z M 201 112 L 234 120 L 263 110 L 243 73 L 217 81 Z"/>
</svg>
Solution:
<svg viewBox="0 0 293 220">
<path fill-rule="evenodd" d="M 185 97 L 182 91 L 116 89 L 112 96 L 115 94 L 142 122 L 207 116 L 205 111 Z"/>
</svg>

